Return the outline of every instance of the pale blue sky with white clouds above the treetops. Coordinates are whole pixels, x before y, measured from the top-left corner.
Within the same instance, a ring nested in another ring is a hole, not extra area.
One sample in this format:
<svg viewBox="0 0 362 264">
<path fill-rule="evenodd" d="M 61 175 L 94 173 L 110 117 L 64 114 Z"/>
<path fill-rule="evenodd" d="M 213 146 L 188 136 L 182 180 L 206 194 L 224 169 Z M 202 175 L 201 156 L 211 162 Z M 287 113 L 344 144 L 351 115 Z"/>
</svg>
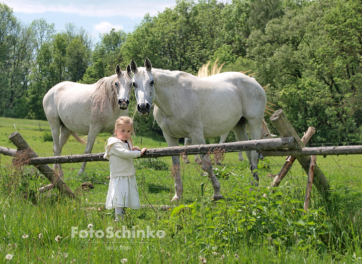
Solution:
<svg viewBox="0 0 362 264">
<path fill-rule="evenodd" d="M 156 16 L 166 8 L 175 7 L 175 0 L 0 0 L 13 9 L 14 15 L 30 24 L 35 19 L 45 19 L 48 24 L 63 30 L 66 23 L 74 23 L 91 33 L 95 41 L 99 34 L 112 28 L 132 32 L 146 13 Z"/>
</svg>

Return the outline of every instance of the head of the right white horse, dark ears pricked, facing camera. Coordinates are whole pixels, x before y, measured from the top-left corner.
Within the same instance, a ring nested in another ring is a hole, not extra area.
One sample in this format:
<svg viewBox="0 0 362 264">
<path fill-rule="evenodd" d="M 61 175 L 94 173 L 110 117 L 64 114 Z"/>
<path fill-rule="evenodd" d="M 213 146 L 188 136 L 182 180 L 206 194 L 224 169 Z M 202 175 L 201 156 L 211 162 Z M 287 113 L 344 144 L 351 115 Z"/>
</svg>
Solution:
<svg viewBox="0 0 362 264">
<path fill-rule="evenodd" d="M 137 110 L 142 116 L 147 116 L 154 101 L 154 77 L 152 75 L 152 64 L 145 58 L 145 67 L 137 67 L 132 59 L 131 70 L 134 73 L 132 85 L 135 89 Z"/>
</svg>

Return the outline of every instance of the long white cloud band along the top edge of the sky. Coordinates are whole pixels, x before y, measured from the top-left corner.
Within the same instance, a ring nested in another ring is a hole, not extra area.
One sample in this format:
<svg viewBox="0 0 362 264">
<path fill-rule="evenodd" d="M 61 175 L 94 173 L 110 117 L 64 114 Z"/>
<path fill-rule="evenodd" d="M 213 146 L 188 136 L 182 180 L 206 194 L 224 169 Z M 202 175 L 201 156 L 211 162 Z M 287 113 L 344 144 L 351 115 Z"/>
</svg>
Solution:
<svg viewBox="0 0 362 264">
<path fill-rule="evenodd" d="M 24 14 L 39 14 L 45 12 L 60 12 L 67 14 L 76 14 L 83 17 L 115 17 L 122 16 L 128 18 L 143 18 L 146 13 L 150 13 L 151 16 L 157 15 L 158 12 L 162 12 L 166 7 L 175 6 L 173 1 L 147 1 L 147 0 L 135 0 L 135 1 L 107 1 L 103 3 L 83 4 L 77 3 L 64 3 L 61 1 L 56 3 L 60 4 L 48 4 L 48 1 L 39 0 L 3 0 L 5 4 L 13 9 L 14 12 Z M 172 3 L 173 2 L 173 3 Z M 54 2 L 53 2 L 54 3 Z"/>
</svg>

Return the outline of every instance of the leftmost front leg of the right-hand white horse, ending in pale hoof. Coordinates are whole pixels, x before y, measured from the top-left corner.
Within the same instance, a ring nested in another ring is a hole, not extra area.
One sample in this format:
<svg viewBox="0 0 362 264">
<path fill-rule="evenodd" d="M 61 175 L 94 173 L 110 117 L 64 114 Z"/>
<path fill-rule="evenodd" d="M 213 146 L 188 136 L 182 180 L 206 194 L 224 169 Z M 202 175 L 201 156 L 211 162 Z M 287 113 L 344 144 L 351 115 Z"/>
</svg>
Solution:
<svg viewBox="0 0 362 264">
<path fill-rule="evenodd" d="M 165 138 L 168 147 L 178 146 L 178 139 L 173 138 L 164 132 L 163 132 L 163 137 Z M 175 195 L 171 199 L 171 202 L 173 202 L 181 199 L 184 190 L 183 182 L 181 179 L 181 166 L 180 166 L 179 156 L 172 156 L 171 174 L 175 178 L 175 184 L 174 184 Z"/>
</svg>

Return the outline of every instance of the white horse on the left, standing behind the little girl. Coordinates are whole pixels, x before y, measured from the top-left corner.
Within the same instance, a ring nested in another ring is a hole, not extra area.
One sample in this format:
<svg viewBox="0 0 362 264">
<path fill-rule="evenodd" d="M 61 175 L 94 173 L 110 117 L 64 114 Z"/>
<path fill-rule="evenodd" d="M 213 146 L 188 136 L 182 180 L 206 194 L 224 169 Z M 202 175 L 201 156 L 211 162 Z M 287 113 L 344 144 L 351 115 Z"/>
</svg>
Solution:
<svg viewBox="0 0 362 264">
<path fill-rule="evenodd" d="M 54 156 L 61 154 L 73 131 L 88 135 L 84 154 L 92 153 L 97 135 L 113 134 L 116 119 L 128 115 L 131 89 L 130 65 L 122 71 L 118 64 L 116 74 L 94 84 L 65 81 L 52 87 L 44 96 L 43 107 L 52 132 Z M 85 165 L 83 162 L 79 174 Z M 61 170 L 59 164 L 56 167 Z"/>
</svg>

